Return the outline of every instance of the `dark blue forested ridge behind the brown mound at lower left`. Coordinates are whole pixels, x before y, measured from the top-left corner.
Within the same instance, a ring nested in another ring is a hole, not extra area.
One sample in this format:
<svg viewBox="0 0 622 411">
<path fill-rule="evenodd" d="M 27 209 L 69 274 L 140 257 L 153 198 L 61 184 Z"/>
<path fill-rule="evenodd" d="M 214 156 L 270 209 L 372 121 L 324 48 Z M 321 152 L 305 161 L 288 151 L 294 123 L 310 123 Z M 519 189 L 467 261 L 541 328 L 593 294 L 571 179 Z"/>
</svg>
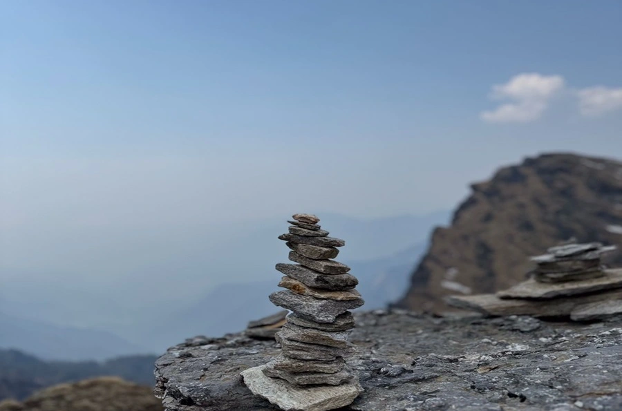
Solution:
<svg viewBox="0 0 622 411">
<path fill-rule="evenodd" d="M 153 386 L 156 356 L 124 356 L 95 361 L 42 361 L 19 350 L 0 350 L 0 401 L 25 399 L 37 390 L 94 376 L 120 376 L 126 381 Z"/>
</svg>

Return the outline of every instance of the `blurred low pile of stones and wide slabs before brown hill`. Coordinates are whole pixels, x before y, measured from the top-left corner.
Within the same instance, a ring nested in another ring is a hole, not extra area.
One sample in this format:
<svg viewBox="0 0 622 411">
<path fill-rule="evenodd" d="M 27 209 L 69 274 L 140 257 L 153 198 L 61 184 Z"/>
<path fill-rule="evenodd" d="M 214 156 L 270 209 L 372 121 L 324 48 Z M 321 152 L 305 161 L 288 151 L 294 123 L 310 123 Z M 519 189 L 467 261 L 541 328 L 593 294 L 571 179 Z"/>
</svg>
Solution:
<svg viewBox="0 0 622 411">
<path fill-rule="evenodd" d="M 622 314 L 622 269 L 606 269 L 599 242 L 551 247 L 532 257 L 529 280 L 496 294 L 452 296 L 450 305 L 493 316 L 531 315 L 591 321 Z"/>
</svg>

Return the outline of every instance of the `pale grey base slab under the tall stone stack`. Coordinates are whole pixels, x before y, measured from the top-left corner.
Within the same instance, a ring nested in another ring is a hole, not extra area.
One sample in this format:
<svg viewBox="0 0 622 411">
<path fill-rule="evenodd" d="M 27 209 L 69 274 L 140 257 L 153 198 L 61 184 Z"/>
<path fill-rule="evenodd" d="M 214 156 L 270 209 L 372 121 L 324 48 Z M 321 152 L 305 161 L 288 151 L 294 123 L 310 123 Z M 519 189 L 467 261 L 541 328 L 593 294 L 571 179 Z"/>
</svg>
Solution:
<svg viewBox="0 0 622 411">
<path fill-rule="evenodd" d="M 265 365 L 241 372 L 246 386 L 256 396 L 261 396 L 283 411 L 328 411 L 350 405 L 363 388 L 358 381 L 341 385 L 292 387 L 287 381 L 274 379 L 263 373 Z"/>
</svg>

